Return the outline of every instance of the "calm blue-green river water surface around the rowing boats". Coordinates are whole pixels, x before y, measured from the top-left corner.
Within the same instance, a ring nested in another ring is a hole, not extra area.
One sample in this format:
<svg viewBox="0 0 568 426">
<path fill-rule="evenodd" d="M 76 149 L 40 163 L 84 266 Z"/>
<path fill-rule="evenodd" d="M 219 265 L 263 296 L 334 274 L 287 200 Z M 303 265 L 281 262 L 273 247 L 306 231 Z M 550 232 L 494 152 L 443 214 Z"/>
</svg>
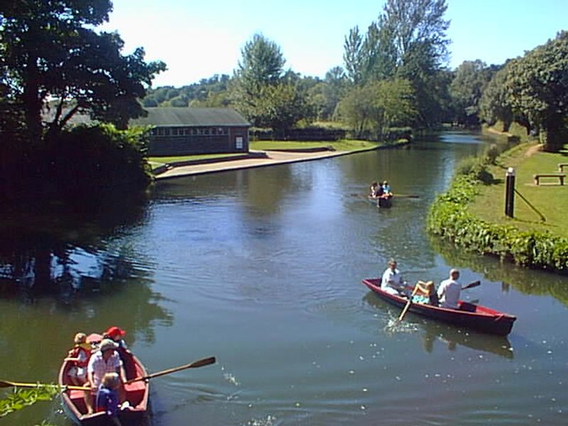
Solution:
<svg viewBox="0 0 568 426">
<path fill-rule="evenodd" d="M 153 379 L 153 425 L 565 425 L 568 278 L 425 233 L 454 165 L 482 148 L 474 135 L 444 133 L 411 148 L 160 182 L 141 212 L 80 249 L 88 224 L 67 225 L 71 290 L 0 299 L 0 378 L 55 381 L 76 331 L 117 324 L 149 371 L 217 356 Z M 363 196 L 378 178 L 420 197 L 378 210 Z M 361 284 L 390 257 L 410 282 L 439 282 L 454 266 L 463 283 L 481 280 L 464 298 L 517 315 L 512 334 L 412 314 L 393 327 L 399 310 Z M 69 424 L 59 402 L 1 421 L 43 419 Z"/>
</svg>

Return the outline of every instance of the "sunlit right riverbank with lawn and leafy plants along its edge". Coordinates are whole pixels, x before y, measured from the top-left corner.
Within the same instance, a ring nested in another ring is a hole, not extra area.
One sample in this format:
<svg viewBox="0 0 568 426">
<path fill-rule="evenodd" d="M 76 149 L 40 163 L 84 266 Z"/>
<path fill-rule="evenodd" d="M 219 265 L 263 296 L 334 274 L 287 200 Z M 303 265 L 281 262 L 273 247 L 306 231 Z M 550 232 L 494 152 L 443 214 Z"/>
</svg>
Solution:
<svg viewBox="0 0 568 426">
<path fill-rule="evenodd" d="M 534 141 L 515 146 L 487 166 L 491 182 L 471 174 L 454 178 L 430 207 L 427 228 L 461 249 L 568 273 L 568 188 L 559 180 L 535 185 L 533 179 L 535 173 L 556 173 L 566 160 L 562 153 L 540 151 Z M 513 218 L 505 215 L 507 168 L 515 169 Z"/>
</svg>

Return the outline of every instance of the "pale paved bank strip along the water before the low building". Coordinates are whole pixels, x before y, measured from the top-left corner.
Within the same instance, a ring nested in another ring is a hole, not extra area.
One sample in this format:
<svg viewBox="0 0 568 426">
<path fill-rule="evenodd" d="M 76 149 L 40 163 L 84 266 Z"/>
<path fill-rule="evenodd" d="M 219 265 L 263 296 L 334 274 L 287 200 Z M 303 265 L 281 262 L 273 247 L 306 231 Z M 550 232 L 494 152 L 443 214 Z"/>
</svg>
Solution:
<svg viewBox="0 0 568 426">
<path fill-rule="evenodd" d="M 202 175 L 204 173 L 216 173 L 226 170 L 238 170 L 243 168 L 266 167 L 285 163 L 298 163 L 300 161 L 321 160 L 323 158 L 338 157 L 365 151 L 378 149 L 399 148 L 410 143 L 398 141 L 395 143 L 383 143 L 376 146 L 351 149 L 350 151 L 336 151 L 331 148 L 309 147 L 301 148 L 277 148 L 266 151 L 251 151 L 243 155 L 219 156 L 200 160 L 172 161 L 153 170 L 156 180 L 182 178 L 184 176 Z"/>
</svg>

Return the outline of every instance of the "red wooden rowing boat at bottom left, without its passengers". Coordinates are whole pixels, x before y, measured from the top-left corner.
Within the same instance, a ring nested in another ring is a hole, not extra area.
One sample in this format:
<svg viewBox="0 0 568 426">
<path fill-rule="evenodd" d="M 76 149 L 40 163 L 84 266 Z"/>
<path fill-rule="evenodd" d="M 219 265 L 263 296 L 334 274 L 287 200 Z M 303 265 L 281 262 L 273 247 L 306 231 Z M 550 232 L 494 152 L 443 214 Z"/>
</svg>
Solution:
<svg viewBox="0 0 568 426">
<path fill-rule="evenodd" d="M 87 337 L 88 342 L 100 340 L 100 334 L 91 334 Z M 136 377 L 148 376 L 146 368 L 136 356 L 133 356 L 136 368 Z M 60 386 L 70 385 L 67 371 L 71 367 L 70 363 L 63 361 L 59 371 L 58 383 Z M 135 381 L 127 383 L 125 386 L 126 400 L 129 401 L 130 408 L 121 410 L 119 418 L 123 425 L 143 425 L 148 413 L 148 395 L 150 383 L 146 381 Z M 106 413 L 87 414 L 87 407 L 84 403 L 85 391 L 66 390 L 61 393 L 65 412 L 76 425 L 98 426 L 109 425 L 109 417 Z"/>
</svg>

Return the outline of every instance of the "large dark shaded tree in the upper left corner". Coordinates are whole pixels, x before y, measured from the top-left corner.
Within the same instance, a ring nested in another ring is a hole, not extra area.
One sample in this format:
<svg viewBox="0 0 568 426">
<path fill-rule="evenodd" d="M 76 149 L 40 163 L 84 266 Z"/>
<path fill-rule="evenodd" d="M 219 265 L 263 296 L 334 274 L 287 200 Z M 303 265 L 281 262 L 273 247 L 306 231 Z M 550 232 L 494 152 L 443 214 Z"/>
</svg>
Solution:
<svg viewBox="0 0 568 426">
<path fill-rule="evenodd" d="M 43 108 L 51 111 L 50 136 L 77 112 L 120 128 L 143 114 L 137 99 L 165 64 L 144 62 L 142 48 L 121 55 L 124 42 L 117 33 L 94 31 L 111 9 L 110 0 L 22 0 L 0 6 L 0 84 L 23 111 L 31 141 L 42 138 Z"/>
</svg>

